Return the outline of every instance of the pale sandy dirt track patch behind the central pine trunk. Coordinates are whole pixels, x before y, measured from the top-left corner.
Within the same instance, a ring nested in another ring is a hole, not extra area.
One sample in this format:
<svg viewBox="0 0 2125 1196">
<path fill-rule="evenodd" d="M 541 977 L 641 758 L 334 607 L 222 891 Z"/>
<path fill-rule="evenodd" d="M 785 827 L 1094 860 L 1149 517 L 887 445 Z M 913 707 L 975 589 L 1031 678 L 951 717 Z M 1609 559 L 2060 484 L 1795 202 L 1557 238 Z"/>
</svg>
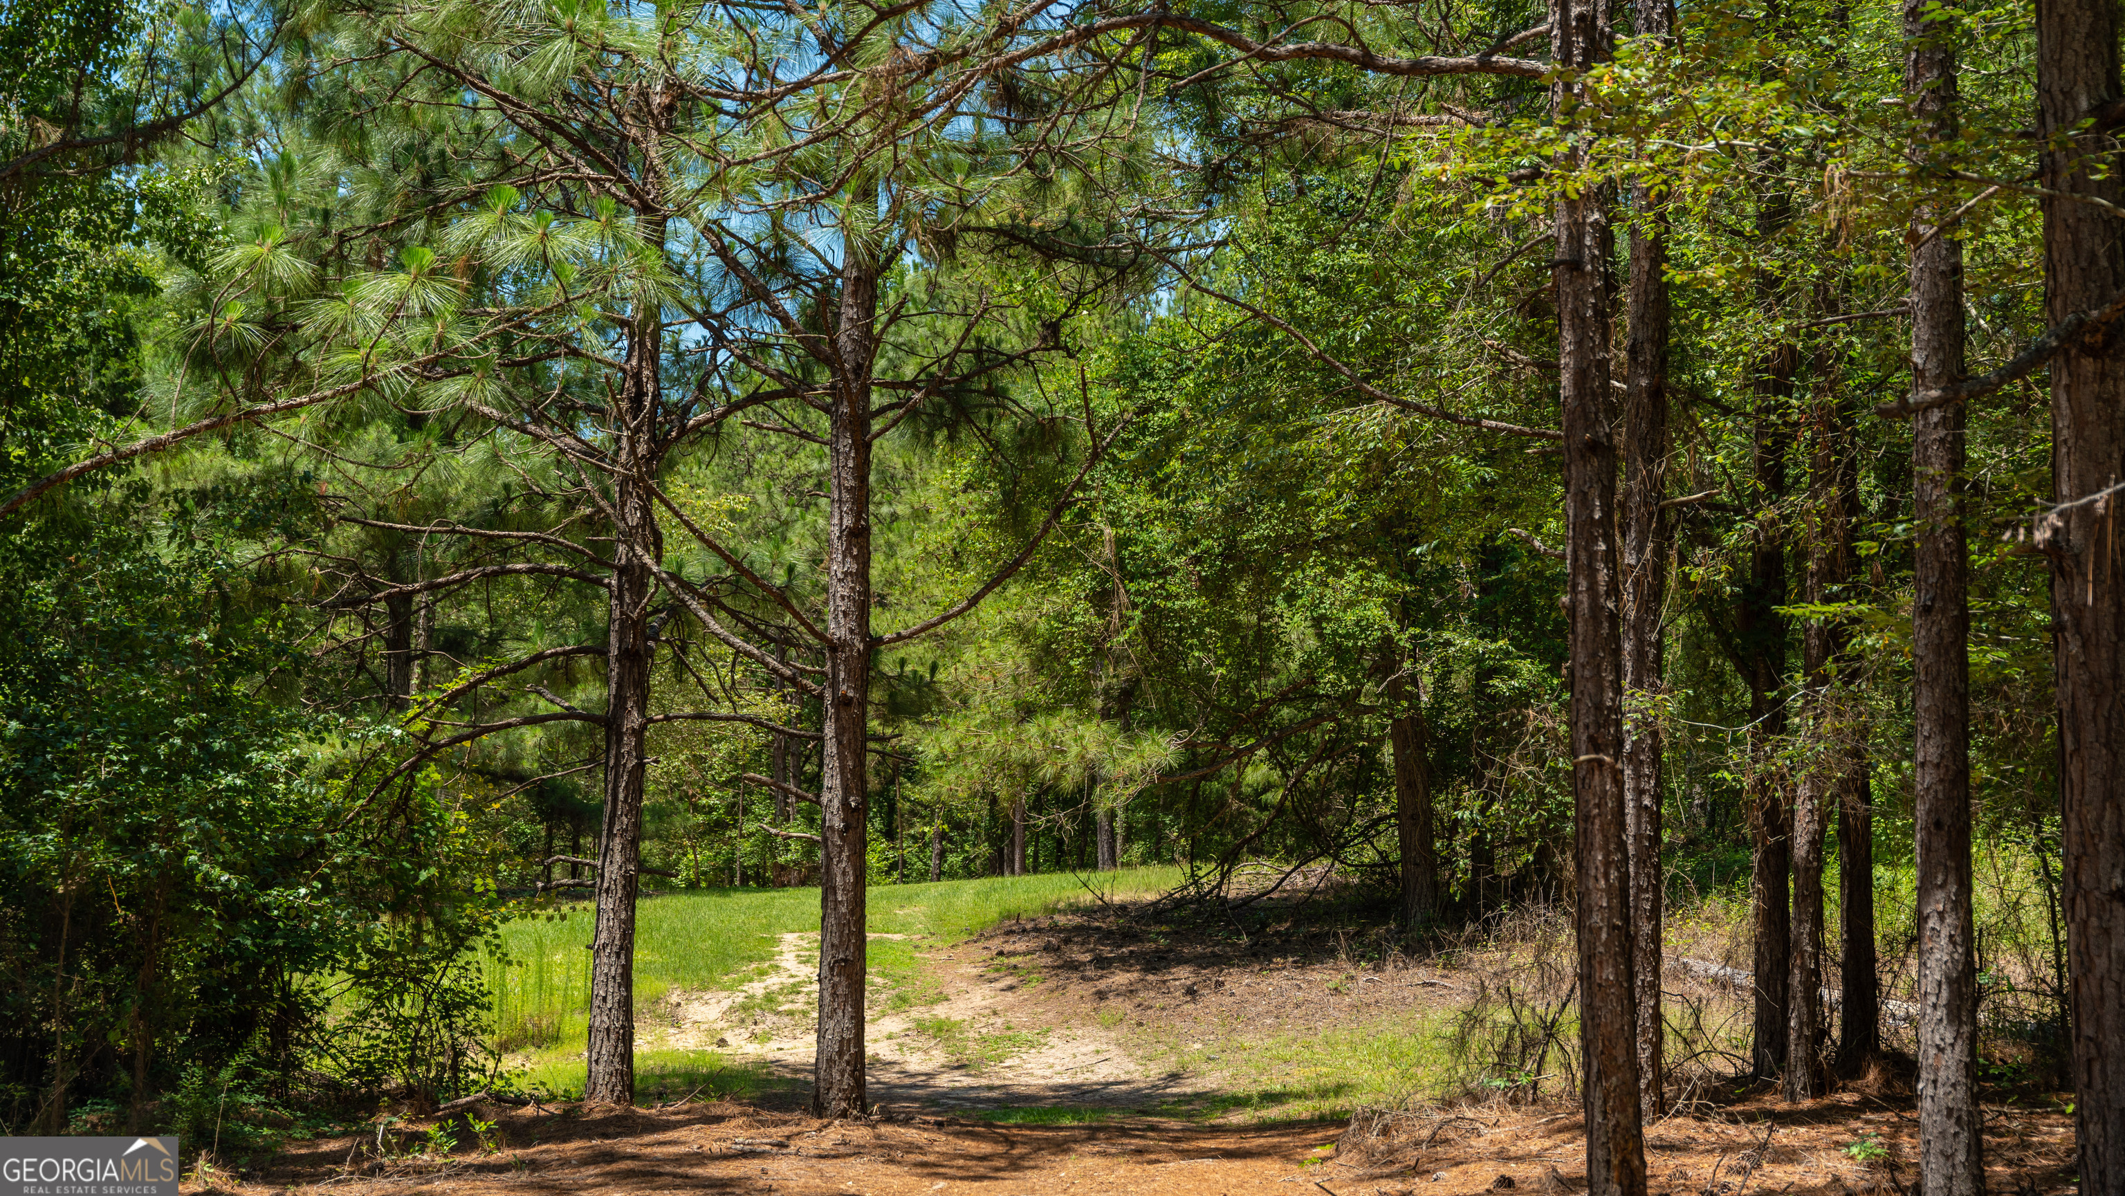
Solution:
<svg viewBox="0 0 2125 1196">
<path fill-rule="evenodd" d="M 871 935 L 901 939 L 903 935 Z M 1198 1088 L 1182 1073 L 1143 1066 L 1122 1035 L 1090 1020 L 1058 1022 L 1020 994 L 1020 975 L 967 943 L 920 956 L 944 998 L 907 1007 L 880 1001 L 867 1028 L 869 1094 L 903 1111 L 1026 1105 L 1158 1107 Z M 769 1075 L 810 1079 L 818 1003 L 818 935 L 788 933 L 774 958 L 731 992 L 674 998 L 672 1026 L 642 1047 L 720 1049 Z"/>
</svg>

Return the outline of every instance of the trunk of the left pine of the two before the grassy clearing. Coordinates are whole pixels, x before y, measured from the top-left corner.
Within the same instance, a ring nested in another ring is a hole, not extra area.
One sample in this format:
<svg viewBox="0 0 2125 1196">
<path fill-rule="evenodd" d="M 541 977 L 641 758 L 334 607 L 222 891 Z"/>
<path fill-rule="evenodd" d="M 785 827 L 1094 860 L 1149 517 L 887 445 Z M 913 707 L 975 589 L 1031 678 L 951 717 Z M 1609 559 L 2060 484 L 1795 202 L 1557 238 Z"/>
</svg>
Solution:
<svg viewBox="0 0 2125 1196">
<path fill-rule="evenodd" d="M 642 221 L 652 244 L 661 221 Z M 612 412 L 614 571 L 606 588 L 606 818 L 597 839 L 597 922 L 591 933 L 591 1024 L 584 1100 L 635 1098 L 635 884 L 642 867 L 642 782 L 650 714 L 650 565 L 663 542 L 650 484 L 661 399 L 663 314 L 644 304 L 629 327 L 625 378 Z"/>
</svg>

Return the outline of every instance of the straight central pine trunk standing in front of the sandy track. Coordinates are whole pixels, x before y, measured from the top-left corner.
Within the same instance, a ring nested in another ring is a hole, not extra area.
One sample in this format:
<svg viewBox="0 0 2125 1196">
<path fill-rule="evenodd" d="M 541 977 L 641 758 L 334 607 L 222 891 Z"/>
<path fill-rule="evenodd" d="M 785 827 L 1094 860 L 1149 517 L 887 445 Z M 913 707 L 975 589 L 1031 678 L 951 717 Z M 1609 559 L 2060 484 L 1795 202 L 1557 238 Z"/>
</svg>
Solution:
<svg viewBox="0 0 2125 1196">
<path fill-rule="evenodd" d="M 873 195 L 861 178 L 854 202 Z M 827 431 L 827 758 L 820 778 L 818 1056 L 812 1109 L 861 1117 L 867 971 L 865 826 L 871 690 L 871 359 L 878 253 L 850 238 L 842 259 L 839 357 Z"/>
</svg>

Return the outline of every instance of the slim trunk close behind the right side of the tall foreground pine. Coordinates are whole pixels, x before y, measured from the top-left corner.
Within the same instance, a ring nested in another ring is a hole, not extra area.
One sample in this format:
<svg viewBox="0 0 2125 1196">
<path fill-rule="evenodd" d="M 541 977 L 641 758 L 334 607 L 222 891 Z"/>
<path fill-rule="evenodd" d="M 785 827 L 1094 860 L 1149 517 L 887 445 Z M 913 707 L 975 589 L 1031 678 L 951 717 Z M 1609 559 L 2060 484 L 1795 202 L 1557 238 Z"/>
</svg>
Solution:
<svg viewBox="0 0 2125 1196">
<path fill-rule="evenodd" d="M 1674 0 L 1638 0 L 1638 34 L 1670 38 Z M 1630 843 L 1632 979 L 1638 994 L 1638 1105 L 1660 1115 L 1666 873 L 1662 835 L 1662 614 L 1668 601 L 1668 242 L 1653 191 L 1632 189 L 1630 342 L 1624 348 L 1624 811 Z"/>
</svg>

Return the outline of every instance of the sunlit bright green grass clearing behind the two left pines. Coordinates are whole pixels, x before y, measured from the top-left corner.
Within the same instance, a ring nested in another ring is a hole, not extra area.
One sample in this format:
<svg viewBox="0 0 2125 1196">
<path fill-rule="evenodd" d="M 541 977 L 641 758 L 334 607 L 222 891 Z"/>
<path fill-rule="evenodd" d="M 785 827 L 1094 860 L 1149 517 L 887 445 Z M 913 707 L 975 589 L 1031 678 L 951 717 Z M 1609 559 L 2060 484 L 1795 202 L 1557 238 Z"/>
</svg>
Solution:
<svg viewBox="0 0 2125 1196">
<path fill-rule="evenodd" d="M 1050 873 L 1026 877 L 890 884 L 869 892 L 873 935 L 956 941 L 1007 918 L 1094 905 L 1101 896 L 1139 896 L 1171 888 L 1177 869 Z M 816 888 L 710 888 L 644 901 L 635 924 L 635 1011 L 654 1009 L 674 990 L 735 988 L 774 958 L 776 939 L 818 930 Z M 504 956 L 489 960 L 495 1041 L 527 1060 L 518 1081 L 555 1094 L 582 1090 L 582 1045 L 591 998 L 591 911 L 570 907 L 527 913 L 502 930 Z M 916 939 L 873 939 L 871 1007 L 924 1001 Z M 695 1088 L 722 1096 L 752 1094 L 761 1075 L 718 1052 L 644 1052 L 635 1092 L 682 1096 Z"/>
</svg>

